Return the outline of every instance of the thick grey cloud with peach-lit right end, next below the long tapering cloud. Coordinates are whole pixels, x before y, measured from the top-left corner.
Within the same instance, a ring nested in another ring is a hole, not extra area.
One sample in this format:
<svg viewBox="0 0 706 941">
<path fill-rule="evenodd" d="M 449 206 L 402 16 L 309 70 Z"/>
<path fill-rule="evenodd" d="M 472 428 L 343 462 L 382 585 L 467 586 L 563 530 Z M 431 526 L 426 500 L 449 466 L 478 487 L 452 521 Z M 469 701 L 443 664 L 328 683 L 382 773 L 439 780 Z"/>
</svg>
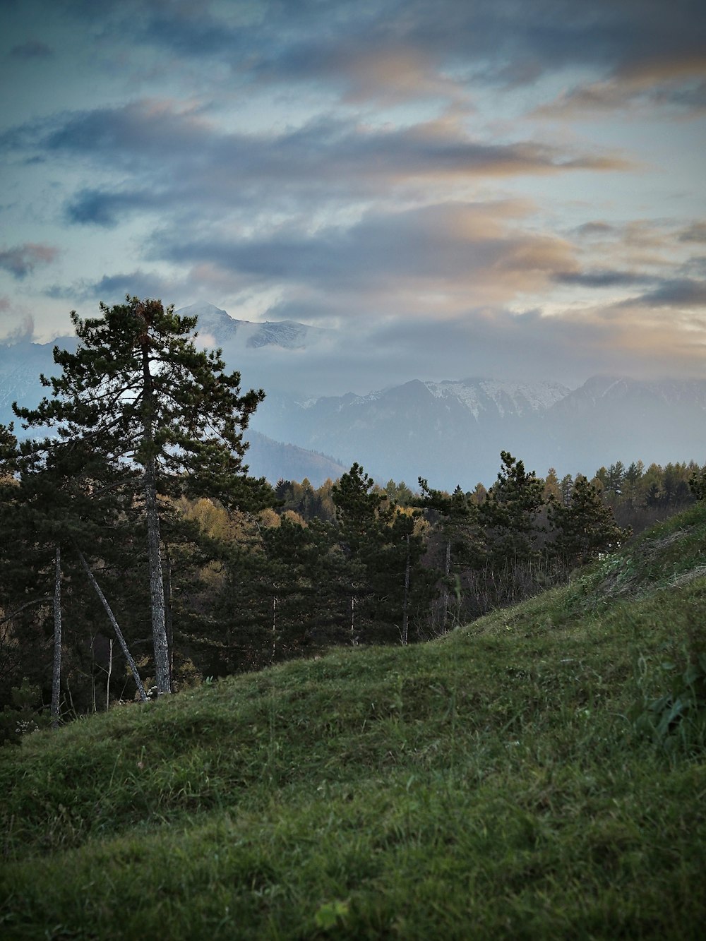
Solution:
<svg viewBox="0 0 706 941">
<path fill-rule="evenodd" d="M 553 275 L 571 260 L 570 247 L 549 236 L 505 231 L 493 206 L 443 204 L 390 215 L 368 214 L 349 229 L 308 235 L 291 229 L 268 239 L 199 240 L 163 231 L 155 257 L 173 263 L 216 263 L 252 279 L 277 279 L 367 293 L 428 279 L 501 284 L 522 273 Z M 409 289 L 409 288 L 407 288 Z"/>
</svg>

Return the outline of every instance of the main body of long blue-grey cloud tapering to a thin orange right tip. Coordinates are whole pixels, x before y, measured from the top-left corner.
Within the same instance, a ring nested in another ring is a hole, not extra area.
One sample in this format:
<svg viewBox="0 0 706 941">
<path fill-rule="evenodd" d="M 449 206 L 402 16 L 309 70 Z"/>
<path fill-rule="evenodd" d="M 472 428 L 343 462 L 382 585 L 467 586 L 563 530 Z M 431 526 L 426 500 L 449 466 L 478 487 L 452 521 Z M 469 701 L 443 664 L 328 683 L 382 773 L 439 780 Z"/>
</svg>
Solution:
<svg viewBox="0 0 706 941">
<path fill-rule="evenodd" d="M 31 129 L 27 129 L 27 134 Z M 397 177 L 547 172 L 564 168 L 621 168 L 612 154 L 562 151 L 530 141 L 490 144 L 461 130 L 419 124 L 402 130 L 361 130 L 344 120 L 314 120 L 280 135 L 219 133 L 205 118 L 169 104 L 135 102 L 77 114 L 37 140 L 46 151 L 95 156 L 134 170 L 155 166 L 198 172 L 219 170 L 219 183 L 312 179 L 343 174 L 389 181 Z"/>
</svg>

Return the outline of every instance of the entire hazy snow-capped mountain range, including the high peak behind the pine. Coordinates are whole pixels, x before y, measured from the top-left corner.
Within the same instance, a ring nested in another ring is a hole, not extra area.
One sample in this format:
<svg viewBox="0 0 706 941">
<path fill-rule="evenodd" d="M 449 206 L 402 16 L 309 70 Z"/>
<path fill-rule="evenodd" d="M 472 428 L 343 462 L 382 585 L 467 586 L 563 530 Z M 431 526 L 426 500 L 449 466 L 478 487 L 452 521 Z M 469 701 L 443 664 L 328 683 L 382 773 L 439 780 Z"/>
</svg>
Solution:
<svg viewBox="0 0 706 941">
<path fill-rule="evenodd" d="M 540 475 L 554 467 L 590 476 L 618 460 L 706 462 L 706 380 L 594 376 L 570 389 L 551 380 L 413 379 L 366 395 L 304 397 L 277 388 L 272 363 L 296 357 L 306 369 L 308 351 L 333 331 L 239 321 L 213 305 L 178 312 L 198 316 L 201 343 L 221 346 L 229 369 L 247 355 L 272 380 L 262 382 L 265 402 L 247 432 L 250 472 L 272 482 L 308 477 L 318 486 L 358 461 L 382 483 L 415 486 L 422 476 L 431 486 L 472 489 L 492 483 L 502 450 Z M 53 345 L 0 345 L 0 422 L 12 419 L 13 400 L 39 401 L 39 374 L 55 369 Z"/>
</svg>

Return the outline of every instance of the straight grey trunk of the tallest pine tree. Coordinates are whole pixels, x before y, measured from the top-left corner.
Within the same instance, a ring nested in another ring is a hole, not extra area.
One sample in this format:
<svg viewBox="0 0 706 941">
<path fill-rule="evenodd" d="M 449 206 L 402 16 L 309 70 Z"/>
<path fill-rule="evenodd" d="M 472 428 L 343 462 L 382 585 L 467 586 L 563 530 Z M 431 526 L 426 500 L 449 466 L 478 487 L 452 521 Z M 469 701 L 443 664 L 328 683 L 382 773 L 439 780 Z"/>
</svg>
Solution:
<svg viewBox="0 0 706 941">
<path fill-rule="evenodd" d="M 142 343 L 142 380 L 144 401 L 143 434 L 149 450 L 152 450 L 154 431 L 154 399 L 148 343 Z M 169 645 L 165 619 L 164 574 L 160 550 L 159 512 L 157 509 L 156 460 L 148 451 L 145 464 L 145 515 L 147 517 L 147 547 L 150 558 L 150 598 L 152 599 L 152 645 L 154 647 L 154 679 L 157 695 L 171 693 L 169 678 Z"/>
</svg>

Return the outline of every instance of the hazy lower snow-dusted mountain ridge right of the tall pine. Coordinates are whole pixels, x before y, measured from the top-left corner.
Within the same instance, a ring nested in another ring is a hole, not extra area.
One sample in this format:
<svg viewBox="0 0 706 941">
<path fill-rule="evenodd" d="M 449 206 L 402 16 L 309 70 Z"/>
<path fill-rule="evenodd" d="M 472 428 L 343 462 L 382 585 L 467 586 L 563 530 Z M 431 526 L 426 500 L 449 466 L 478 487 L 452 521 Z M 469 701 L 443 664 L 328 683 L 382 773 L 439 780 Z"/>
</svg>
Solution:
<svg viewBox="0 0 706 941">
<path fill-rule="evenodd" d="M 297 402 L 271 392 L 254 426 L 273 438 L 360 461 L 380 480 L 490 484 L 501 450 L 538 473 L 706 461 L 706 381 L 412 381 L 369 395 Z"/>
</svg>

